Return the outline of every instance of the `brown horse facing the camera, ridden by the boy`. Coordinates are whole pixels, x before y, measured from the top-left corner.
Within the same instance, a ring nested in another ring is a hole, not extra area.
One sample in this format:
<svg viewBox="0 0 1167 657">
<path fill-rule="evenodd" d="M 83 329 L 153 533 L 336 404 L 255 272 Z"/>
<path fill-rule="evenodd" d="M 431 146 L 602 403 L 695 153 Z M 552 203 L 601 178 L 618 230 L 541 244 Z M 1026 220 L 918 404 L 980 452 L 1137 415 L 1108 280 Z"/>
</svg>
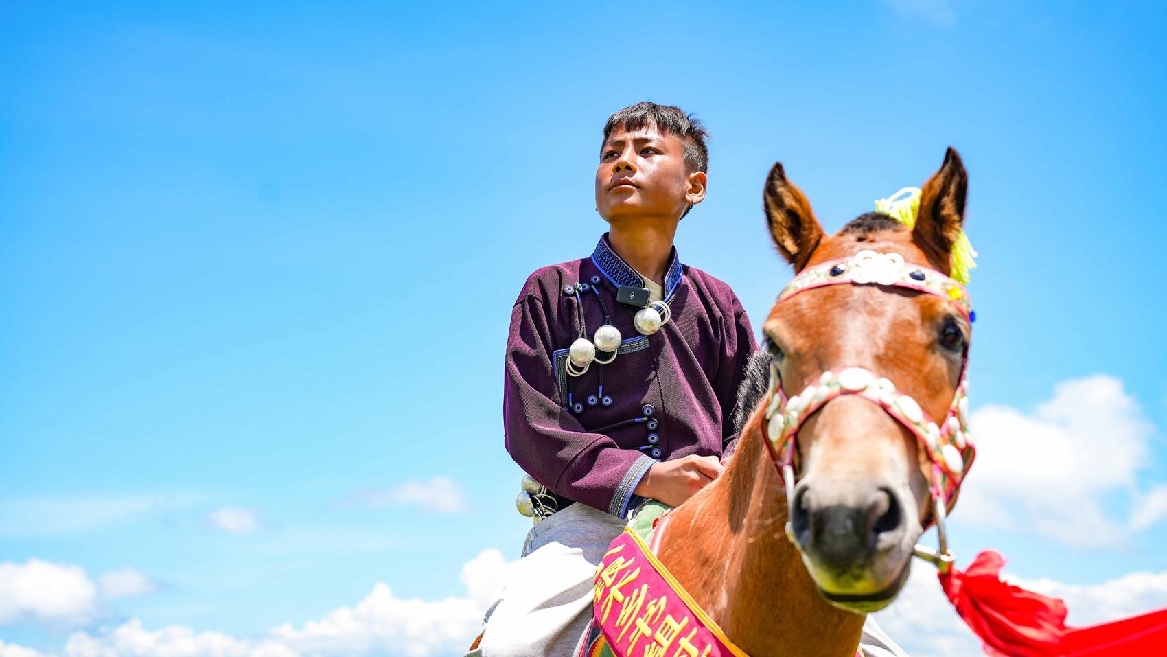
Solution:
<svg viewBox="0 0 1167 657">
<path fill-rule="evenodd" d="M 949 148 L 922 188 L 915 228 L 868 214 L 833 236 L 824 235 L 781 163 L 763 196 L 774 244 L 796 272 L 873 250 L 949 274 L 966 186 L 960 158 Z M 860 366 L 944 418 L 970 331 L 951 306 L 902 287 L 832 285 L 776 303 L 763 330 L 787 391 L 813 385 L 827 370 Z M 907 579 L 932 512 L 930 462 L 917 436 L 878 405 L 832 399 L 798 429 L 788 518 L 763 435 L 760 372 L 769 368 L 753 369 L 754 392 L 742 405 L 753 413 L 736 453 L 720 478 L 670 513 L 657 554 L 747 653 L 853 657 L 865 613 L 889 603 Z"/>
</svg>

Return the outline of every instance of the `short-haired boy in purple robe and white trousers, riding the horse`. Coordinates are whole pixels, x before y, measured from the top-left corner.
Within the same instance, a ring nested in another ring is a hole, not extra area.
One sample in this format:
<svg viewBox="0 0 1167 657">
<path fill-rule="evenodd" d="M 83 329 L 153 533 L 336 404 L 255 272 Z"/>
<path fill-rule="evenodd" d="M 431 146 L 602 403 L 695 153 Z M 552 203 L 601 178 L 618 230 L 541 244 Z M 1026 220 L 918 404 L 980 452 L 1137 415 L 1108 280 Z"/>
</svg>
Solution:
<svg viewBox="0 0 1167 657">
<path fill-rule="evenodd" d="M 729 286 L 672 245 L 705 198 L 706 138 L 675 106 L 613 114 L 595 174 L 609 232 L 589 258 L 531 274 L 515 303 L 505 443 L 540 517 L 470 656 L 578 655 L 595 567 L 629 516 L 687 499 L 736 443 L 754 333 Z"/>
</svg>

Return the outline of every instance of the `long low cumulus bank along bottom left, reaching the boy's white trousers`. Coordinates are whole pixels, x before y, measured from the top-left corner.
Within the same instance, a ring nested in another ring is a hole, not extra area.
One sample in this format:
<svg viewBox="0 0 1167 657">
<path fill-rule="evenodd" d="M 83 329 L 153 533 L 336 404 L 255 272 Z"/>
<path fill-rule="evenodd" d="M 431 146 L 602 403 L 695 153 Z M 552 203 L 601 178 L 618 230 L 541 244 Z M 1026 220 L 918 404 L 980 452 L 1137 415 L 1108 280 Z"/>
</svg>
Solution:
<svg viewBox="0 0 1167 657">
<path fill-rule="evenodd" d="M 133 618 L 104 631 L 75 632 L 60 657 L 436 657 L 461 655 L 502 588 L 508 561 L 484 550 L 462 566 L 466 595 L 429 601 L 397 596 L 378 582 L 352 607 L 319 621 L 285 623 L 261 637 L 233 637 L 182 625 L 151 630 Z M 21 652 L 21 651 L 25 652 Z M 57 657 L 0 643 L 0 657 Z"/>
</svg>

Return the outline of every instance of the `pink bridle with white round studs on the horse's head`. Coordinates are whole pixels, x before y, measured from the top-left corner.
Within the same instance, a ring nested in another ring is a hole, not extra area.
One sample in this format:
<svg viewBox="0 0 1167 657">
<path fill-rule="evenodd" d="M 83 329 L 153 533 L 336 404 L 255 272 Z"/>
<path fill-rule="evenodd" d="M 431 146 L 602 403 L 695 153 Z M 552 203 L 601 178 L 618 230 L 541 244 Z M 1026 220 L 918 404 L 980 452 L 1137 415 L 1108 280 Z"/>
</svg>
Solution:
<svg viewBox="0 0 1167 657">
<path fill-rule="evenodd" d="M 976 319 L 969 293 L 960 284 L 935 270 L 904 263 L 899 253 L 876 253 L 872 250 L 803 270 L 783 288 L 775 303 L 781 303 L 808 289 L 844 284 L 914 289 L 948 300 L 970 323 Z M 888 378 L 871 370 L 864 368 L 829 370 L 818 377 L 817 383 L 808 385 L 801 393 L 787 397 L 782 389 L 778 365 L 770 363 L 770 384 L 766 397 L 762 435 L 769 447 L 770 460 L 778 469 L 785 487 L 788 518 L 794 517 L 798 428 L 832 399 L 845 394 L 858 396 L 878 405 L 907 427 L 927 454 L 931 466 L 931 473 L 925 475 L 931 475 L 928 478 L 932 509 L 924 529 L 936 524 L 939 546 L 938 550 L 934 550 L 917 545 L 914 554 L 932 562 L 941 572 L 948 572 L 953 558 L 948 550 L 944 518 L 948 511 L 951 511 L 960 482 L 964 481 L 976 456 L 976 448 L 969 435 L 967 341 L 962 356 L 956 394 L 952 397 L 948 414 L 939 422 L 934 421 L 910 396 L 899 392 Z M 789 522 L 787 536 L 792 540 Z"/>
</svg>

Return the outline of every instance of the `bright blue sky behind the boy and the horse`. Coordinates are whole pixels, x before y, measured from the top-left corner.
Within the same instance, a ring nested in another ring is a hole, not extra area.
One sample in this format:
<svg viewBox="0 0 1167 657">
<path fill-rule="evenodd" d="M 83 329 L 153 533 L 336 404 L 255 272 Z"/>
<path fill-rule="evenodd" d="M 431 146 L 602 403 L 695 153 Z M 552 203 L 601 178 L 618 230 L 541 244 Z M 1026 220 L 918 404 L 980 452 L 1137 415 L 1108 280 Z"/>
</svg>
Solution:
<svg viewBox="0 0 1167 657">
<path fill-rule="evenodd" d="M 755 322 L 775 160 L 834 230 L 958 148 L 998 455 L 958 555 L 1167 604 L 1165 33 L 1140 2 L 0 5 L 0 586 L 72 592 L 0 604 L 0 656 L 473 617 L 527 527 L 510 306 L 591 252 L 603 120 L 642 99 L 710 128 L 677 247 Z M 461 641 L 392 631 L 316 650 Z"/>
</svg>

